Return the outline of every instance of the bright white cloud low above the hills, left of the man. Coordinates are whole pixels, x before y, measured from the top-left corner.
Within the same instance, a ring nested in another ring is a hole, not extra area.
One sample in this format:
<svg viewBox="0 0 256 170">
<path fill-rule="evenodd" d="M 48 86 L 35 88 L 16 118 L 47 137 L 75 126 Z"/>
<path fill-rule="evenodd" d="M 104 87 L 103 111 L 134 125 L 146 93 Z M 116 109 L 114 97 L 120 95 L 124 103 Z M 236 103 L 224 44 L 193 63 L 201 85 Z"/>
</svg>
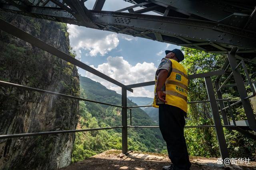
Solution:
<svg viewBox="0 0 256 170">
<path fill-rule="evenodd" d="M 154 80 L 155 72 L 157 69 L 154 66 L 154 63 L 143 62 L 131 65 L 128 63 L 128 61 L 124 60 L 123 57 L 111 56 L 107 58 L 107 63 L 102 63 L 98 65 L 98 67 L 91 65 L 91 67 L 126 85 Z M 98 76 L 95 76 L 89 72 L 86 72 L 85 76 L 91 78 L 94 81 L 100 82 L 108 89 L 121 93 L 120 87 L 106 80 L 103 80 Z M 135 88 L 134 94 L 131 94 L 130 96 L 152 97 L 154 96 L 154 92 L 146 90 L 145 88 Z"/>
</svg>

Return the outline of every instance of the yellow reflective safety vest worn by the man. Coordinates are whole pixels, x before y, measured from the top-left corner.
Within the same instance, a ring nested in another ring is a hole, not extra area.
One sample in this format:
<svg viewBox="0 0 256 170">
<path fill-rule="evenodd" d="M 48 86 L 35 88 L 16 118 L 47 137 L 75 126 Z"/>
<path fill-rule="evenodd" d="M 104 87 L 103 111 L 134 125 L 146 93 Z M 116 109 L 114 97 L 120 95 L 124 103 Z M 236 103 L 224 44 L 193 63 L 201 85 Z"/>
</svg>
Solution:
<svg viewBox="0 0 256 170">
<path fill-rule="evenodd" d="M 179 107 L 187 113 L 188 74 L 185 68 L 180 63 L 178 63 L 178 61 L 172 59 L 169 60 L 172 62 L 172 72 L 165 81 L 165 104 Z M 157 83 L 157 80 L 155 80 L 155 83 Z M 158 105 L 156 105 L 156 84 L 153 107 L 159 107 Z"/>
</svg>

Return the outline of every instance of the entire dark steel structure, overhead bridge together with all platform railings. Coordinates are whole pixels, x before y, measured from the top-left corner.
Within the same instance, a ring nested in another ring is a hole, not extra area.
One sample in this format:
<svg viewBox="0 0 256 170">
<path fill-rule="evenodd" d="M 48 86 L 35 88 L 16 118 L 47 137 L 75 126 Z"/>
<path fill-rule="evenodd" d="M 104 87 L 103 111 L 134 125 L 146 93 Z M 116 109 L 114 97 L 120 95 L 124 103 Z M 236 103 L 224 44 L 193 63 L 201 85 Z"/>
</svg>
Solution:
<svg viewBox="0 0 256 170">
<path fill-rule="evenodd" d="M 256 82 L 250 79 L 245 64 L 246 62 L 256 64 L 256 1 L 125 0 L 126 2 L 124 1 L 124 3 L 130 2 L 133 5 L 117 11 L 102 11 L 105 0 L 96 0 L 93 9 L 88 10 L 86 6 L 84 6 L 84 2 L 86 1 L 87 0 L 0 0 L 0 9 L 4 12 L 81 25 L 93 29 L 172 43 L 207 52 L 225 54 L 223 56 L 227 56 L 227 58 L 221 70 L 189 76 L 189 79 L 204 78 L 208 99 L 204 101 L 192 101 L 188 102 L 188 104 L 209 102 L 214 125 L 187 126 L 187 128 L 214 127 L 219 143 L 220 154 L 223 159 L 229 157 L 223 127 L 230 131 L 239 131 L 244 136 L 256 140 L 256 135 L 251 133 L 251 131 L 256 131 L 256 119 L 249 100 L 249 98 L 256 96 Z M 134 10 L 139 6 L 142 7 L 142 9 Z M 146 12 L 155 12 L 158 15 L 143 14 Z M 15 88 L 73 98 L 74 100 L 83 100 L 122 108 L 122 126 L 84 130 L 2 134 L 0 135 L 0 139 L 122 128 L 122 152 L 127 153 L 128 128 L 156 127 L 132 126 L 132 108 L 146 106 L 127 106 L 126 98 L 127 90 L 132 92 L 132 88 L 154 85 L 154 81 L 124 85 L 4 20 L 0 20 L 0 29 L 122 87 L 122 106 L 116 106 L 0 81 L 1 86 L 12 86 Z M 231 74 L 224 82 L 221 82 L 220 78 L 229 67 L 232 70 Z M 247 77 L 246 81 L 243 80 L 240 74 L 241 71 L 245 72 Z M 213 81 L 212 76 L 218 77 Z M 232 76 L 236 83 L 226 84 L 227 80 Z M 247 84 L 249 84 L 252 89 L 252 94 L 249 96 L 245 88 Z M 240 100 L 232 101 L 222 98 L 221 89 L 232 86 L 237 87 Z M 236 104 L 242 104 L 247 120 L 238 121 L 234 119 L 232 106 Z M 127 123 L 128 110 L 130 110 L 130 125 Z M 232 117 L 232 120 L 228 119 L 228 114 L 230 114 L 229 117 Z M 222 121 L 224 125 L 222 125 Z"/>
</svg>

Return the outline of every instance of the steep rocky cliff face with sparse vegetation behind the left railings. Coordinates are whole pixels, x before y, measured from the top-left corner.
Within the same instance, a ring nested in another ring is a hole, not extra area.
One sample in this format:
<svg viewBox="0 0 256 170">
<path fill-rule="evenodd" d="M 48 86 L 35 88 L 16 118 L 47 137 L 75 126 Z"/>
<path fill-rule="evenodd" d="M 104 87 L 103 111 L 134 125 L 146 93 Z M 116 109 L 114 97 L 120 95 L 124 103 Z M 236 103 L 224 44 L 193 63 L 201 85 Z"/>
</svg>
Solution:
<svg viewBox="0 0 256 170">
<path fill-rule="evenodd" d="M 0 14 L 24 31 L 69 53 L 66 24 Z M 0 80 L 79 95 L 76 66 L 0 31 Z M 76 129 L 79 101 L 0 86 L 0 134 Z M 0 169 L 56 169 L 71 161 L 75 135 L 0 140 Z"/>
</svg>

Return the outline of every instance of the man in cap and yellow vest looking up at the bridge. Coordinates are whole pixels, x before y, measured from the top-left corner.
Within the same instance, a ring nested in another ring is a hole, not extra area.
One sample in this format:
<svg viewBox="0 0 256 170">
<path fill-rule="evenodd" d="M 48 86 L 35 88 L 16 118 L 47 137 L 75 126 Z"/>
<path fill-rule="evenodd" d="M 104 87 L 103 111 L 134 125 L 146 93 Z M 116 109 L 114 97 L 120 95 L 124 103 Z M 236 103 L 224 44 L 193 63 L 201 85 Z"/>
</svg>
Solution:
<svg viewBox="0 0 256 170">
<path fill-rule="evenodd" d="M 154 107 L 159 107 L 159 127 L 166 141 L 172 165 L 163 170 L 189 170 L 191 163 L 184 137 L 188 104 L 188 75 L 179 63 L 182 51 L 165 51 L 166 56 L 156 70 Z"/>
</svg>

